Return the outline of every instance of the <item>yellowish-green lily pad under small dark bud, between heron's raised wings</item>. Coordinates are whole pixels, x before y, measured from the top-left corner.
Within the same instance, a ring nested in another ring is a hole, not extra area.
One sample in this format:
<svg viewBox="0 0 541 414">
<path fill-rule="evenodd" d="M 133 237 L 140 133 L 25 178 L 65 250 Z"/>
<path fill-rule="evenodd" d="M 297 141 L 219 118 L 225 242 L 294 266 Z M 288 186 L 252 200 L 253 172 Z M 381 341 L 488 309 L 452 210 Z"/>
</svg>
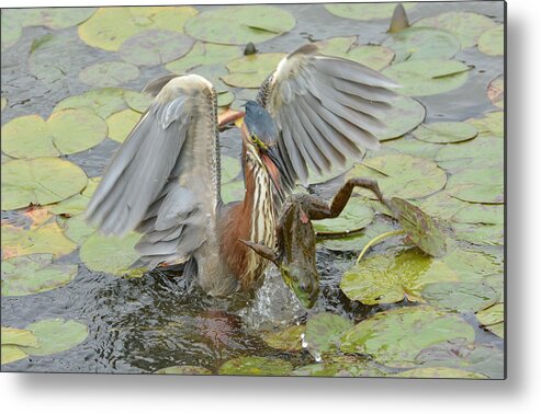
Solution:
<svg viewBox="0 0 541 414">
<path fill-rule="evenodd" d="M 227 64 L 229 74 L 224 74 L 222 80 L 232 87 L 259 88 L 285 56 L 285 54 L 257 54 L 232 60 Z"/>
</svg>

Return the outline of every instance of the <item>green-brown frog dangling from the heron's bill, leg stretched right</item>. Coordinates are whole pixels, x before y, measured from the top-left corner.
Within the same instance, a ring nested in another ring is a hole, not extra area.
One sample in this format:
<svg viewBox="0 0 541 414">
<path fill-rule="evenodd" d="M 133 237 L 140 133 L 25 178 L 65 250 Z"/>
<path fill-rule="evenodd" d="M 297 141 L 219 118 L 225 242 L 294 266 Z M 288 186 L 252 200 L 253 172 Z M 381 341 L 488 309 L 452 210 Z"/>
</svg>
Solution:
<svg viewBox="0 0 541 414">
<path fill-rule="evenodd" d="M 340 216 L 354 187 L 370 189 L 383 203 L 383 195 L 376 181 L 352 177 L 338 189 L 330 203 L 311 194 L 291 194 L 280 209 L 274 248 L 239 239 L 278 267 L 285 285 L 307 309 L 314 307 L 319 296 L 316 232 L 312 221 Z"/>
</svg>

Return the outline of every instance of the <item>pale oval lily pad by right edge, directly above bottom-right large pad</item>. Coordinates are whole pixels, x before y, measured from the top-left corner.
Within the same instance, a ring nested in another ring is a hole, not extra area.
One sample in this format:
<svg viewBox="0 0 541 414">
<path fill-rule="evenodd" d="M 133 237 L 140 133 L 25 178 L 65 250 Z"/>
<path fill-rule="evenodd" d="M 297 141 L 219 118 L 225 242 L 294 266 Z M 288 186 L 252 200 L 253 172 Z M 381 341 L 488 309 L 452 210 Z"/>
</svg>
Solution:
<svg viewBox="0 0 541 414">
<path fill-rule="evenodd" d="M 435 308 L 457 312 L 476 312 L 498 300 L 489 286 L 477 283 L 437 283 L 422 290 L 422 298 Z"/>
</svg>

